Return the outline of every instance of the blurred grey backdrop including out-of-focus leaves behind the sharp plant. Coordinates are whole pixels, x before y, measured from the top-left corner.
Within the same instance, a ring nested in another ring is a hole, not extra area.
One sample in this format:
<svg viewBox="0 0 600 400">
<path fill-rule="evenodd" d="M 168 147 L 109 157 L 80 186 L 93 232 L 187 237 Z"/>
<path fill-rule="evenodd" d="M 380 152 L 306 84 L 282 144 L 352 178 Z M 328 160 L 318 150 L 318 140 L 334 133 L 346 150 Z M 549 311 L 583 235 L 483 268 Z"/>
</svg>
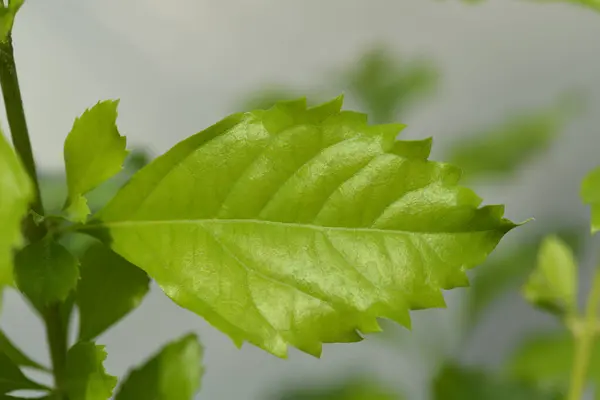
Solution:
<svg viewBox="0 0 600 400">
<path fill-rule="evenodd" d="M 327 345 L 321 360 L 294 350 L 280 360 L 236 349 L 153 287 L 99 338 L 108 372 L 121 376 L 194 331 L 205 346 L 199 400 L 530 400 L 527 384 L 559 384 L 572 349 L 519 290 L 546 234 L 575 249 L 584 292 L 600 262 L 578 196 L 600 161 L 599 37 L 600 14 L 562 3 L 28 0 L 14 42 L 50 206 L 64 201 L 63 140 L 100 99 L 121 99 L 119 126 L 136 152 L 92 204 L 232 112 L 344 93 L 346 108 L 371 122 L 408 125 L 403 138 L 433 137 L 431 158 L 462 167 L 465 183 L 506 204 L 509 218 L 535 217 L 473 271 L 471 289 L 446 293 L 448 309 L 414 312 L 412 332 L 382 321 L 383 333 Z M 1 321 L 48 361 L 42 325 L 17 293 L 5 294 Z"/>
</svg>

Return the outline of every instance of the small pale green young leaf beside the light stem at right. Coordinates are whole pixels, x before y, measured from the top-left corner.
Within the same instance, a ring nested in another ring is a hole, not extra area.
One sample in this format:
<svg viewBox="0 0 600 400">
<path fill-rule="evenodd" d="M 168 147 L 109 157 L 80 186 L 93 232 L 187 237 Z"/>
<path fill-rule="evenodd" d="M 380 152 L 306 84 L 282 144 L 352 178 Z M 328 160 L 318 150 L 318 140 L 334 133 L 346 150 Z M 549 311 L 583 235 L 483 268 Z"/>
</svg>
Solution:
<svg viewBox="0 0 600 400">
<path fill-rule="evenodd" d="M 530 303 L 559 315 L 576 311 L 577 262 L 557 236 L 548 236 L 538 253 L 537 267 L 523 288 Z"/>
</svg>

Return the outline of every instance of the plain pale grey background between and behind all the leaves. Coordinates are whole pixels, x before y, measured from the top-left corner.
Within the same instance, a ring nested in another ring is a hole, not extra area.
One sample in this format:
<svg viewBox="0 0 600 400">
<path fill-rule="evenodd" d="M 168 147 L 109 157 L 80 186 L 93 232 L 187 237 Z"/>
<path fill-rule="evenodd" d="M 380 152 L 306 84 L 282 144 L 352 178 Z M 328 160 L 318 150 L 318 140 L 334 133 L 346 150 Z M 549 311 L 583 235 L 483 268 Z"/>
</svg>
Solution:
<svg viewBox="0 0 600 400">
<path fill-rule="evenodd" d="M 479 192 L 506 203 L 514 220 L 535 216 L 534 224 L 583 224 L 587 218 L 578 188 L 585 172 L 600 163 L 600 112 L 594 111 L 600 110 L 600 15 L 576 6 L 509 0 L 477 7 L 450 0 L 28 0 L 14 36 L 34 151 L 44 169 L 62 168 L 62 142 L 74 117 L 99 99 L 120 98 L 122 133 L 133 146 L 160 154 L 230 113 L 241 95 L 261 83 L 312 89 L 332 68 L 381 41 L 403 55 L 430 57 L 443 71 L 440 92 L 402 121 L 409 126 L 406 137 L 434 137 L 433 158 L 443 156 L 461 132 L 522 107 L 551 104 L 564 89 L 582 87 L 589 110 L 550 152 L 532 160 L 518 178 Z M 400 334 L 397 343 L 369 337 L 356 345 L 328 345 L 321 360 L 297 351 L 279 360 L 249 345 L 236 349 L 153 288 L 99 342 L 107 345 L 109 372 L 121 375 L 166 341 L 198 332 L 207 365 L 199 399 L 259 399 L 289 379 L 319 381 L 364 368 L 419 400 L 427 398 L 436 358 L 456 351 L 461 290 L 449 300 L 448 310 L 414 314 L 414 333 Z M 4 303 L 6 331 L 47 361 L 39 321 L 14 293 Z M 463 357 L 494 364 L 523 332 L 548 324 L 517 296 L 507 296 Z"/>
</svg>

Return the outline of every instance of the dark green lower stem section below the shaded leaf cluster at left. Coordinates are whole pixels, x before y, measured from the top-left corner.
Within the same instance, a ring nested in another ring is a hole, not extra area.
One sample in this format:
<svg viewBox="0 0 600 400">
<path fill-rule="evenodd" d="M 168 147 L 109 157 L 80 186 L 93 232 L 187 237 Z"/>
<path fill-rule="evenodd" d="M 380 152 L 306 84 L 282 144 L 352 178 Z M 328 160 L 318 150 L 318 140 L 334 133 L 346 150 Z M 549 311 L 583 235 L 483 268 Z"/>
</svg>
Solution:
<svg viewBox="0 0 600 400">
<path fill-rule="evenodd" d="M 64 382 L 67 363 L 67 331 L 60 304 L 49 306 L 44 313 L 46 338 L 50 346 L 52 374 L 57 399 L 66 400 Z"/>
</svg>

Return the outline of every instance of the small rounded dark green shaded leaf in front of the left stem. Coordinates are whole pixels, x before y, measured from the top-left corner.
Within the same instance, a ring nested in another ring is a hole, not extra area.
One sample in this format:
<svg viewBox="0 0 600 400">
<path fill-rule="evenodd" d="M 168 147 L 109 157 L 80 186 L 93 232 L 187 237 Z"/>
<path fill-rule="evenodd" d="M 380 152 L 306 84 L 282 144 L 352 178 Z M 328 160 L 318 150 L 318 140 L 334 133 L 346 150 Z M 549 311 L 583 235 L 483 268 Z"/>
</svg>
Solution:
<svg viewBox="0 0 600 400">
<path fill-rule="evenodd" d="M 47 237 L 21 249 L 15 256 L 17 286 L 38 310 L 63 302 L 77 286 L 77 259 Z"/>
</svg>

